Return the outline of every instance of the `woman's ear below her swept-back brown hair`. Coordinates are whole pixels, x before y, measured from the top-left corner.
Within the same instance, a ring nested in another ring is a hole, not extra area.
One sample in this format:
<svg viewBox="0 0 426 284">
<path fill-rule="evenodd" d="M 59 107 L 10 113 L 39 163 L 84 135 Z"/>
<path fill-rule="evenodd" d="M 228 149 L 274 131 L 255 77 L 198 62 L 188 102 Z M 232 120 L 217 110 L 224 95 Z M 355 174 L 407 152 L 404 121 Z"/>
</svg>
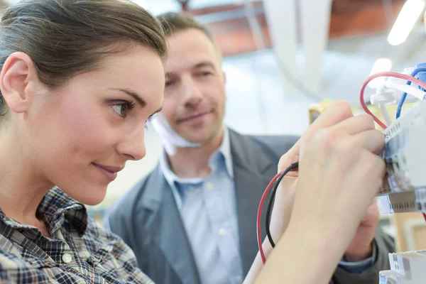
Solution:
<svg viewBox="0 0 426 284">
<path fill-rule="evenodd" d="M 11 111 L 20 113 L 28 109 L 28 84 L 38 81 L 33 60 L 26 53 L 12 53 L 4 62 L 0 73 L 1 94 Z"/>
</svg>

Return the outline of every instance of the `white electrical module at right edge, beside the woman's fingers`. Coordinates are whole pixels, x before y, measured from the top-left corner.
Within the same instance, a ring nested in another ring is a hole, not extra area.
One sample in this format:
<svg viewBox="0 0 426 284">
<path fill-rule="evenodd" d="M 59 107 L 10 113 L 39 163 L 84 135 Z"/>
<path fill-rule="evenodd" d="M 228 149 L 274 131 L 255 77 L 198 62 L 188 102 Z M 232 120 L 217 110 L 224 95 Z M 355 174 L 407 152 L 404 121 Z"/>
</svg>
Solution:
<svg viewBox="0 0 426 284">
<path fill-rule="evenodd" d="M 426 212 L 426 101 L 383 131 L 386 177 L 378 195 L 384 213 Z"/>
</svg>

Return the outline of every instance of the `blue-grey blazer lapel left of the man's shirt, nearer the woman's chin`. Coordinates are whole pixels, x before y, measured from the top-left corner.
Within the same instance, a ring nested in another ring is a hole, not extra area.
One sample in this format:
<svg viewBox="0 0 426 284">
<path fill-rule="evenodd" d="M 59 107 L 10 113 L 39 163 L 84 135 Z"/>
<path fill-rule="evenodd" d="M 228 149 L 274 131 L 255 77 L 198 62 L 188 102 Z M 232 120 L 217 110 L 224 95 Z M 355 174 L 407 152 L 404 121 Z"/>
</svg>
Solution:
<svg viewBox="0 0 426 284">
<path fill-rule="evenodd" d="M 147 185 L 143 206 L 152 210 L 145 226 L 184 284 L 200 283 L 195 259 L 173 192 L 157 167 Z"/>
</svg>

